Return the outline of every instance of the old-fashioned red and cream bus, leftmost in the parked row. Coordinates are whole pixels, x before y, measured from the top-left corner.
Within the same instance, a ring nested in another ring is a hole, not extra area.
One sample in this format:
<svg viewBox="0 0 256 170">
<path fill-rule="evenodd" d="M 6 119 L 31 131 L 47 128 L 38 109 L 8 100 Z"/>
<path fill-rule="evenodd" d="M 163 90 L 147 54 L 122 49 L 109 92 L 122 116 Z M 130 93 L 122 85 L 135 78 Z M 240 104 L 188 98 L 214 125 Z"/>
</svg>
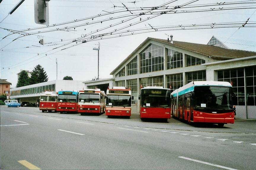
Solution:
<svg viewBox="0 0 256 170">
<path fill-rule="evenodd" d="M 45 91 L 40 95 L 39 110 L 45 111 L 57 111 L 57 94 L 53 91 Z"/>
</svg>

